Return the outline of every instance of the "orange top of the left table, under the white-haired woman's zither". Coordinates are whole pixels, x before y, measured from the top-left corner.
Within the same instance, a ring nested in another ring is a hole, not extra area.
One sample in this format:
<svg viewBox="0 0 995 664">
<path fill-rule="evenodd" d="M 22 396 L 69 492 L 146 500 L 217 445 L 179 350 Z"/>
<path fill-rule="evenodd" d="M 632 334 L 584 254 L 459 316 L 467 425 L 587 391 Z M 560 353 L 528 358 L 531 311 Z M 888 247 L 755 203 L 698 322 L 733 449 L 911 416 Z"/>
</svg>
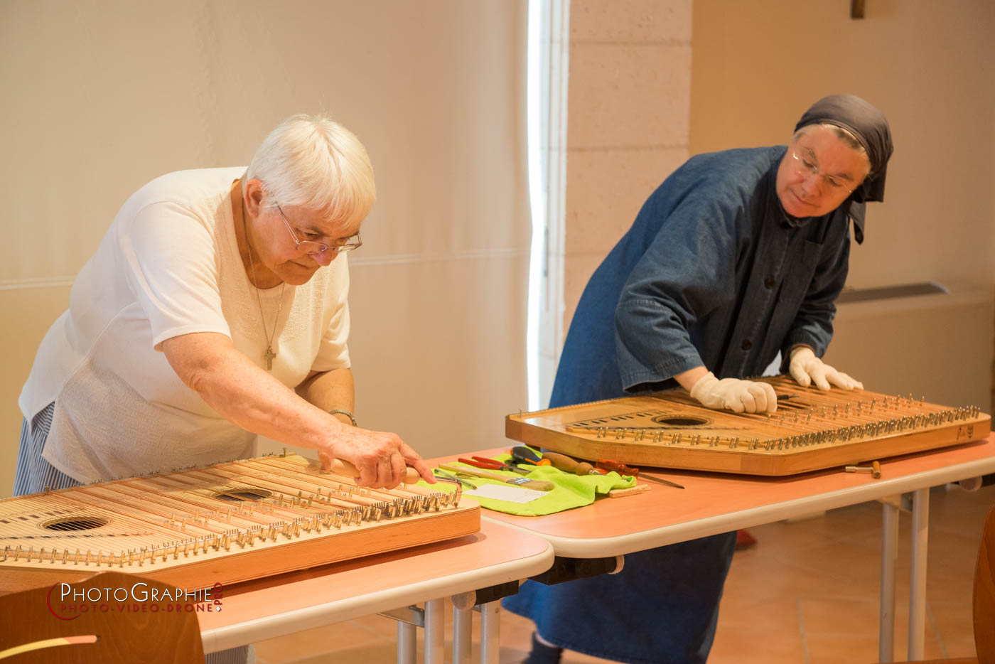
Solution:
<svg viewBox="0 0 995 664">
<path fill-rule="evenodd" d="M 221 611 L 198 613 L 215 652 L 540 573 L 549 544 L 484 522 L 471 536 L 225 586 Z"/>
</svg>

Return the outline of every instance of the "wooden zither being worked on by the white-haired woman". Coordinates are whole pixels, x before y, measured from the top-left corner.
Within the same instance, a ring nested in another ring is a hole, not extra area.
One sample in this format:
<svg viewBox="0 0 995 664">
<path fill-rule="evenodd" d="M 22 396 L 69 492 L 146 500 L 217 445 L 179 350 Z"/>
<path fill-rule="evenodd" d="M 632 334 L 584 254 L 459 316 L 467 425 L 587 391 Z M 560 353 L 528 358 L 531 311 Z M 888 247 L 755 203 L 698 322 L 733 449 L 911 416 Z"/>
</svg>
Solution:
<svg viewBox="0 0 995 664">
<path fill-rule="evenodd" d="M 109 569 L 209 587 L 480 525 L 460 492 L 364 489 L 297 455 L 246 459 L 0 501 L 0 593 Z"/>
</svg>

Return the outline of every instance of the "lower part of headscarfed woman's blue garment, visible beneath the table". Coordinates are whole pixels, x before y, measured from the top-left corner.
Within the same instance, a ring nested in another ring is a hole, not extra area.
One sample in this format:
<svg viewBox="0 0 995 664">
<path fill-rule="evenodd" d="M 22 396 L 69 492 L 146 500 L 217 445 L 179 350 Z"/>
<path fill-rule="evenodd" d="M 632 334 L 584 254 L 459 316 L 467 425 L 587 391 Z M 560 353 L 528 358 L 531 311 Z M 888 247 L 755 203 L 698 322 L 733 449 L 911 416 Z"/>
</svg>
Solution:
<svg viewBox="0 0 995 664">
<path fill-rule="evenodd" d="M 697 664 L 711 649 L 735 542 L 724 533 L 629 553 L 618 574 L 526 581 L 502 605 L 561 648 L 630 664 Z"/>
</svg>

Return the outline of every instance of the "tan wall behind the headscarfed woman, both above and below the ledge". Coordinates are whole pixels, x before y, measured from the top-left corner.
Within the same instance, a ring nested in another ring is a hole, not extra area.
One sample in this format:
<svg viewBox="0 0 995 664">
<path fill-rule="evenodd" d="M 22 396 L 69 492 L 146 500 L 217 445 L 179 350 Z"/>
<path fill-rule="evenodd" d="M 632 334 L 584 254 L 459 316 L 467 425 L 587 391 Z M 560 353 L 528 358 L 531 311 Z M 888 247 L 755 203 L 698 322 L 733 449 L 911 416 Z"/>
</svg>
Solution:
<svg viewBox="0 0 995 664">
<path fill-rule="evenodd" d="M 691 149 L 784 143 L 833 93 L 885 111 L 896 143 L 886 202 L 869 205 L 848 287 L 935 280 L 954 295 L 842 305 L 829 357 L 871 388 L 987 408 L 995 3 L 874 0 L 864 20 L 849 4 L 696 0 Z"/>
</svg>

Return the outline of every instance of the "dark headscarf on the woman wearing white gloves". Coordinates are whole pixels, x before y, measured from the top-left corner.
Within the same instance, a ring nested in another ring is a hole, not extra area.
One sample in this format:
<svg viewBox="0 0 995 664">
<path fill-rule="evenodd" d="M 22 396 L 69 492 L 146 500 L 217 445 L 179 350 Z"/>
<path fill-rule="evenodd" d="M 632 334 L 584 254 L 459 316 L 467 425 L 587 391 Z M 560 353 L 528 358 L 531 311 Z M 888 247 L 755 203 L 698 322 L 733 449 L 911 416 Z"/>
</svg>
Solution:
<svg viewBox="0 0 995 664">
<path fill-rule="evenodd" d="M 885 200 L 885 177 L 892 156 L 892 131 L 885 113 L 854 95 L 830 95 L 812 105 L 795 125 L 836 124 L 850 131 L 867 150 L 871 171 L 864 182 L 844 202 L 854 220 L 857 242 L 864 241 L 865 203 Z"/>
</svg>

